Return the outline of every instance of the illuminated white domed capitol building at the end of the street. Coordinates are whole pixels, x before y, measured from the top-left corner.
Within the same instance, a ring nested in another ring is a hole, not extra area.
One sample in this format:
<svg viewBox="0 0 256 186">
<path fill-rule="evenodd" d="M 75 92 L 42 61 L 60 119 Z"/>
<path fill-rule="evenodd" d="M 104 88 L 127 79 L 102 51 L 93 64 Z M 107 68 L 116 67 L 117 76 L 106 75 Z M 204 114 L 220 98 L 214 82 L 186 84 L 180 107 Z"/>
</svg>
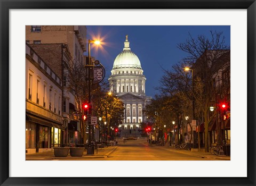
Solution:
<svg viewBox="0 0 256 186">
<path fill-rule="evenodd" d="M 150 103 L 151 97 L 145 94 L 146 78 L 138 56 L 129 45 L 126 35 L 123 51 L 116 56 L 108 80 L 111 92 L 122 100 L 125 107 L 121 136 L 138 136 L 140 123 L 145 121 L 142 109 Z"/>
</svg>

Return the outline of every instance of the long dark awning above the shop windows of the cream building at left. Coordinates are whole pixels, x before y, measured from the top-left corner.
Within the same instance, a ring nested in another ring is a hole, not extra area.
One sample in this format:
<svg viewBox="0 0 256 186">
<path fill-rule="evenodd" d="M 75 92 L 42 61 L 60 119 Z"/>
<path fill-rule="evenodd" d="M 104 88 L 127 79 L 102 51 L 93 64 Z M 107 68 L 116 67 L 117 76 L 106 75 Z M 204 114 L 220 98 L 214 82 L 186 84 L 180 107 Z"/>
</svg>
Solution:
<svg viewBox="0 0 256 186">
<path fill-rule="evenodd" d="M 63 128 L 63 126 L 60 123 L 53 122 L 51 120 L 47 120 L 43 117 L 36 116 L 36 115 L 30 114 L 30 113 L 26 113 L 26 120 L 32 121 L 35 123 L 39 123 L 42 125 L 50 126 L 50 127 L 55 127 L 55 128 L 61 129 L 61 130 L 65 130 L 65 128 Z"/>
</svg>

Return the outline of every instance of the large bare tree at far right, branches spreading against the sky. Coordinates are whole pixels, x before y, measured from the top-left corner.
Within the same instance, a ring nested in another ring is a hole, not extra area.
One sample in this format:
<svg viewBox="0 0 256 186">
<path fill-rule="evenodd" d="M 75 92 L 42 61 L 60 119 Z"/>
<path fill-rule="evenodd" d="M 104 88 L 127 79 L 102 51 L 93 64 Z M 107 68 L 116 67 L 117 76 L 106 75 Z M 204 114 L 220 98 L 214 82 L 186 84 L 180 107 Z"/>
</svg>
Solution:
<svg viewBox="0 0 256 186">
<path fill-rule="evenodd" d="M 225 45 L 225 37 L 222 32 L 211 31 L 211 39 L 198 36 L 194 39 L 190 34 L 186 43 L 178 45 L 178 48 L 188 53 L 184 59 L 194 69 L 194 98 L 202 113 L 205 126 L 205 151 L 209 151 L 209 123 L 214 115 L 209 114 L 212 102 L 217 105 L 217 92 L 215 91 L 215 77 L 219 69 L 223 68 L 220 58 L 229 52 L 229 46 Z"/>
</svg>

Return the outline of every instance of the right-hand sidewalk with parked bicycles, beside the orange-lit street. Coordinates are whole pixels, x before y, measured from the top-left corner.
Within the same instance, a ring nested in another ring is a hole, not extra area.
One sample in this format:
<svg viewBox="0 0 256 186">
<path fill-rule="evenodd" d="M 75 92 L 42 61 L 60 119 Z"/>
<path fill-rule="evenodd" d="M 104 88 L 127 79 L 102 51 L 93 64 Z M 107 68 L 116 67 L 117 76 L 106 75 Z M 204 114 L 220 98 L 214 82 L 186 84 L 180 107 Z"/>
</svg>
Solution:
<svg viewBox="0 0 256 186">
<path fill-rule="evenodd" d="M 155 146 L 155 145 L 152 145 Z M 157 148 L 165 148 L 166 150 L 169 151 L 173 151 L 175 153 L 181 153 L 181 154 L 186 154 L 186 155 L 193 155 L 193 156 L 197 156 L 197 157 L 201 157 L 201 158 L 209 158 L 209 159 L 219 159 L 219 160 L 230 160 L 230 156 L 215 156 L 212 155 L 210 152 L 207 153 L 204 151 L 204 149 L 201 148 L 201 151 L 197 151 L 197 149 L 195 149 L 195 151 L 191 151 L 191 150 L 185 150 L 185 149 L 175 149 L 173 148 L 173 146 L 155 146 Z"/>
</svg>

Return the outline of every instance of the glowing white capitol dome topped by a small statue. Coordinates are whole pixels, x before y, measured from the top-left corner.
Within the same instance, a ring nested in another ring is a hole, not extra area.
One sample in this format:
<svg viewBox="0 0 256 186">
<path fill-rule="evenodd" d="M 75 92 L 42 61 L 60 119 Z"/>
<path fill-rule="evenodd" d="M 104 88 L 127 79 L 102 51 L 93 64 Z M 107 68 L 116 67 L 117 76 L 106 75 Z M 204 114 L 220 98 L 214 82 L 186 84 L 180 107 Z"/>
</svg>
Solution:
<svg viewBox="0 0 256 186">
<path fill-rule="evenodd" d="M 129 44 L 130 43 L 128 41 L 128 36 L 126 36 L 126 40 L 124 42 L 124 49 L 120 54 L 116 56 L 113 70 L 121 68 L 141 69 L 140 60 L 138 56 L 131 51 Z"/>
</svg>

